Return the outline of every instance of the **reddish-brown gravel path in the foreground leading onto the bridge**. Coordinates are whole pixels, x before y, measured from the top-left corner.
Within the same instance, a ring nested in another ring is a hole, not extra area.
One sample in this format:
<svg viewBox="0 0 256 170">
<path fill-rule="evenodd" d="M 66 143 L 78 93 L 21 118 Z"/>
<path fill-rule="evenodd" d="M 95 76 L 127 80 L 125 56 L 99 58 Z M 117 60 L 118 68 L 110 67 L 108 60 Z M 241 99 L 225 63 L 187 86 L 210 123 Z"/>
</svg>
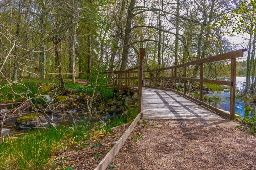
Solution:
<svg viewBox="0 0 256 170">
<path fill-rule="evenodd" d="M 110 166 L 118 170 L 255 170 L 255 158 L 256 136 L 233 125 L 141 120 Z"/>
</svg>

